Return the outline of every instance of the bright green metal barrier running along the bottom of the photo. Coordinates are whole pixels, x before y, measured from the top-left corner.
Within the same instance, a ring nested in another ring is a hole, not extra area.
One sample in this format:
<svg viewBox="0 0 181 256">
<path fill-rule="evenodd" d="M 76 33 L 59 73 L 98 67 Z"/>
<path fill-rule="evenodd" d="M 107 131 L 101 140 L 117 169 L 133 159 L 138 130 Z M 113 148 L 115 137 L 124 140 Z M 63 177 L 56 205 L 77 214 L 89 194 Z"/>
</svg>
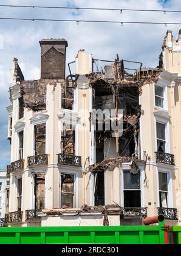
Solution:
<svg viewBox="0 0 181 256">
<path fill-rule="evenodd" d="M 0 228 L 0 244 L 164 244 L 164 222 L 152 226 Z"/>
</svg>

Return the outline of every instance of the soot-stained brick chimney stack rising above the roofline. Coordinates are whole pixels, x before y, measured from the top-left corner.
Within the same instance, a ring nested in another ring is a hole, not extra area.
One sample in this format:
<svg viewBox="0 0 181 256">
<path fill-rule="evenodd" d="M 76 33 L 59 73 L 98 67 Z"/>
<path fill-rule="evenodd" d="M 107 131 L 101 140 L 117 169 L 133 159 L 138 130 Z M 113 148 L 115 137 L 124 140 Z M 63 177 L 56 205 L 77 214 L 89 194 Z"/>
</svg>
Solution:
<svg viewBox="0 0 181 256">
<path fill-rule="evenodd" d="M 65 79 L 66 47 L 65 39 L 42 39 L 41 78 Z"/>
</svg>

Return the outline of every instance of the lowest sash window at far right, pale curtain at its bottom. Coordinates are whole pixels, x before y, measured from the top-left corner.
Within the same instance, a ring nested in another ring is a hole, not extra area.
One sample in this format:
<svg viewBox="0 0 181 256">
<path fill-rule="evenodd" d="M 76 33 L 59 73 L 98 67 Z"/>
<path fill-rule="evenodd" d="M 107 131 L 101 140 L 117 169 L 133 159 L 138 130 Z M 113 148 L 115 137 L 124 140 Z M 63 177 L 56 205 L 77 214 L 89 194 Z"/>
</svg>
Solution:
<svg viewBox="0 0 181 256">
<path fill-rule="evenodd" d="M 168 208 L 168 178 L 167 173 L 159 172 L 160 207 Z"/>
</svg>

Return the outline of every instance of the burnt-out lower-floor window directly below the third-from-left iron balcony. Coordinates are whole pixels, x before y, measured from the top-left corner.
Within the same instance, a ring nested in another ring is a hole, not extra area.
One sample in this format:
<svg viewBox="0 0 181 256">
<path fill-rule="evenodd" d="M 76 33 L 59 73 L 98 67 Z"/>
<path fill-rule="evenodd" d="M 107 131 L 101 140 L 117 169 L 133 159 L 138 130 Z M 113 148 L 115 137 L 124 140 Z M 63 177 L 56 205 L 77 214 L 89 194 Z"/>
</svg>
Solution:
<svg viewBox="0 0 181 256">
<path fill-rule="evenodd" d="M 74 174 L 61 174 L 61 207 L 74 207 Z"/>
</svg>

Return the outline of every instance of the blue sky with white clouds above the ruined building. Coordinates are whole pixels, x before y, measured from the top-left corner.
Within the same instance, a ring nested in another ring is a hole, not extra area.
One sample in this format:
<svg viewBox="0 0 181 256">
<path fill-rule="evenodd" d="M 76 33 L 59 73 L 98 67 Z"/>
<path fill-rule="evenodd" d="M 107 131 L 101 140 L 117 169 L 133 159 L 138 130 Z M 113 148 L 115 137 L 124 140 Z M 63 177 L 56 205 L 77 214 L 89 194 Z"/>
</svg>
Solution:
<svg viewBox="0 0 181 256">
<path fill-rule="evenodd" d="M 1 4 L 54 5 L 99 8 L 142 8 L 181 10 L 177 0 L 104 0 L 104 1 L 59 1 L 59 0 L 0 0 Z M 45 19 L 96 19 L 110 21 L 157 21 L 180 22 L 180 13 L 138 13 L 119 11 L 46 10 L 36 8 L 0 7 L 0 17 L 45 18 Z M 10 163 L 10 144 L 7 140 L 7 110 L 9 104 L 9 69 L 13 57 L 19 59 L 25 79 L 40 78 L 40 46 L 43 38 L 65 38 L 68 40 L 66 60 L 75 59 L 77 51 L 84 48 L 97 59 L 121 59 L 143 62 L 144 66 L 157 66 L 161 45 L 167 30 L 174 37 L 179 25 L 125 24 L 79 24 L 68 22 L 30 22 L 0 20 L 0 168 Z M 3 47 L 2 46 L 3 40 Z"/>
</svg>

